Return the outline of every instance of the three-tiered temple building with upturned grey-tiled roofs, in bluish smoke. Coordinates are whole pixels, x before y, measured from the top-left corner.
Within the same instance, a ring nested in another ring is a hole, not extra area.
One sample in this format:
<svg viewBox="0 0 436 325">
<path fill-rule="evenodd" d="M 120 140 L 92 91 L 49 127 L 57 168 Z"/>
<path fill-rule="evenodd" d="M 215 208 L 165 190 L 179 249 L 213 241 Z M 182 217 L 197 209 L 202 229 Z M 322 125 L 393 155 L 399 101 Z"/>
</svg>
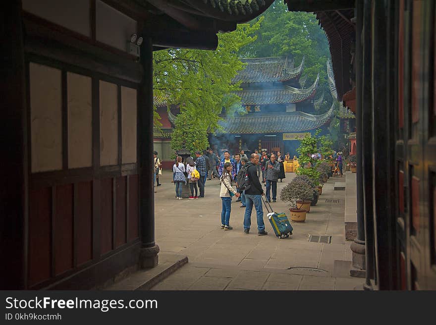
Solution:
<svg viewBox="0 0 436 325">
<path fill-rule="evenodd" d="M 302 76 L 304 57 L 297 67 L 291 57 L 267 57 L 242 60 L 247 65 L 234 79 L 241 81 L 241 98 L 245 114 L 227 116 L 221 121 L 223 130 L 210 143 L 216 151 L 234 153 L 248 148 L 289 152 L 297 155 L 302 137 L 318 128 L 327 128 L 334 105 L 323 114 L 315 114 L 315 107 L 324 94 L 315 99 L 319 85 L 305 88 L 307 75 Z"/>
</svg>

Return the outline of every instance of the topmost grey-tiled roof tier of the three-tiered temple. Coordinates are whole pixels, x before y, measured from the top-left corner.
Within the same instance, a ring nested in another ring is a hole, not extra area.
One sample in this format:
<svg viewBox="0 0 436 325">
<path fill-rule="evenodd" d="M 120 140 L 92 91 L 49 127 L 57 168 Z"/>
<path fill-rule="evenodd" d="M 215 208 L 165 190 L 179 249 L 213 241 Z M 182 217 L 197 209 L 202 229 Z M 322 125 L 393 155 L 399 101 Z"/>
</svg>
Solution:
<svg viewBox="0 0 436 325">
<path fill-rule="evenodd" d="M 233 82 L 273 82 L 297 79 L 303 71 L 304 56 L 296 68 L 291 68 L 289 57 L 259 57 L 242 59 L 247 65 L 233 78 Z"/>
</svg>

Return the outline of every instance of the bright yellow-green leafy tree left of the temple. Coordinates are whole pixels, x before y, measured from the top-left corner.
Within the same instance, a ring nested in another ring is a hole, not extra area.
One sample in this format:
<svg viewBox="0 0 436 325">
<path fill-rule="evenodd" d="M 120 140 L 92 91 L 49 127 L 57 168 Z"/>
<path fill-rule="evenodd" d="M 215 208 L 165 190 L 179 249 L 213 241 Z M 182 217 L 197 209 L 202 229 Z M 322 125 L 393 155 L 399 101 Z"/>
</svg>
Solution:
<svg viewBox="0 0 436 325">
<path fill-rule="evenodd" d="M 171 135 L 174 150 L 206 149 L 208 133 L 219 129 L 219 114 L 240 108 L 241 99 L 233 93 L 240 90 L 240 83 L 231 82 L 244 67 L 237 53 L 256 39 L 252 34 L 261 22 L 218 33 L 215 51 L 168 49 L 154 53 L 154 95 L 165 98 L 168 107 L 180 105 Z"/>
</svg>

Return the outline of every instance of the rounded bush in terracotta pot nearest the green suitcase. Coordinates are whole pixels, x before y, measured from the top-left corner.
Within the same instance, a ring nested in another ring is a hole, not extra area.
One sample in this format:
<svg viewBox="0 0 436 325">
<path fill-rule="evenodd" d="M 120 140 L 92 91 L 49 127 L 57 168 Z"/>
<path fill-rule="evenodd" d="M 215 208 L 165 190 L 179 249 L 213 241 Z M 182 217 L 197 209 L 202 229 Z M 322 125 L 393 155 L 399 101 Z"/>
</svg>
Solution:
<svg viewBox="0 0 436 325">
<path fill-rule="evenodd" d="M 309 201 L 313 198 L 313 189 L 311 186 L 301 179 L 293 179 L 280 192 L 280 199 L 283 202 L 289 202 L 289 211 L 292 221 L 305 221 L 306 209 L 304 201 Z M 298 203 L 300 202 L 300 203 Z M 310 209 L 310 203 L 306 205 Z"/>
</svg>

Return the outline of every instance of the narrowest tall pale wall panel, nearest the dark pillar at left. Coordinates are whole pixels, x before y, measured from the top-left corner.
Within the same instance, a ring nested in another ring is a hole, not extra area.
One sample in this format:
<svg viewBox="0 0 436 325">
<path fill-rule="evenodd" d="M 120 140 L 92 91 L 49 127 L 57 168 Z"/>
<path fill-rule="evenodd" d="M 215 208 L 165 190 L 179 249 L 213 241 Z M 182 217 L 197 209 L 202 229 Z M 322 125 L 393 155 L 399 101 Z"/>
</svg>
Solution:
<svg viewBox="0 0 436 325">
<path fill-rule="evenodd" d="M 121 87 L 122 163 L 136 162 L 136 89 Z"/>
</svg>

